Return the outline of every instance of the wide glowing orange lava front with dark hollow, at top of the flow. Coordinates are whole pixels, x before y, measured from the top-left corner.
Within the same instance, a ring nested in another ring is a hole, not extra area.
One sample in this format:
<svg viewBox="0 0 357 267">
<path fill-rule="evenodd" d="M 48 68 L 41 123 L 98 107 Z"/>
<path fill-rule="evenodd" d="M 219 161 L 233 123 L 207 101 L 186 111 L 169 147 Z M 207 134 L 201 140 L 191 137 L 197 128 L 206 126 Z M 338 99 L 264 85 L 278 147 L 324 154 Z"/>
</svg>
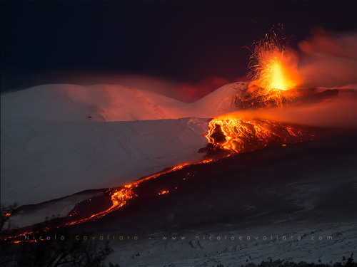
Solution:
<svg viewBox="0 0 357 267">
<path fill-rule="evenodd" d="M 268 120 L 218 118 L 209 122 L 206 138 L 209 143 L 233 153 L 249 152 L 271 144 L 286 145 L 313 140 L 314 135 L 298 127 Z"/>
</svg>

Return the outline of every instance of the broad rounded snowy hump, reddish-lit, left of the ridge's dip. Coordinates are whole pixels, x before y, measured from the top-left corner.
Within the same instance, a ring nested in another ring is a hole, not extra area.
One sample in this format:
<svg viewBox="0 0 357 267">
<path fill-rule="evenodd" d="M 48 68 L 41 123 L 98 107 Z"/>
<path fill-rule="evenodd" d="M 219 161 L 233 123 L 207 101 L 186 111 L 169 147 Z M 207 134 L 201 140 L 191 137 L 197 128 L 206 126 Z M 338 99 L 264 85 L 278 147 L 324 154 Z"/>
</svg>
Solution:
<svg viewBox="0 0 357 267">
<path fill-rule="evenodd" d="M 1 96 L 3 117 L 10 119 L 118 121 L 171 118 L 171 110 L 159 105 L 184 107 L 184 103 L 171 98 L 120 85 L 40 85 Z"/>
</svg>

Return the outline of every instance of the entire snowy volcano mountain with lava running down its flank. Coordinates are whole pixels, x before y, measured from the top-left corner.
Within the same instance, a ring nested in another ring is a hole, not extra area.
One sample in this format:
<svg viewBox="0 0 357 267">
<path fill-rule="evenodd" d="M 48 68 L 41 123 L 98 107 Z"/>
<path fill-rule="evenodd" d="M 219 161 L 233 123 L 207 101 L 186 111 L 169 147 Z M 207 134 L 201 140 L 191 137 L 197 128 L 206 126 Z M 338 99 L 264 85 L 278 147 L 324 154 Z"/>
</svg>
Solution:
<svg viewBox="0 0 357 267">
<path fill-rule="evenodd" d="M 1 203 L 21 205 L 9 214 L 18 229 L 7 239 L 39 234 L 34 229 L 58 215 L 56 227 L 72 233 L 85 227 L 97 236 L 136 236 L 140 249 L 115 244 L 127 249 L 113 257 L 128 265 L 171 264 L 176 249 L 187 264 L 207 257 L 233 264 L 246 260 L 249 246 L 256 246 L 253 262 L 270 255 L 268 246 L 298 246 L 286 253 L 294 261 L 306 259 L 306 249 L 335 260 L 354 240 L 356 127 L 341 126 L 338 116 L 323 125 L 313 119 L 319 110 L 349 108 L 356 95 L 327 88 L 267 93 L 248 83 L 195 103 L 119 85 L 41 85 L 2 95 Z M 296 123 L 296 113 L 311 107 L 310 120 Z M 306 238 L 316 231 L 326 238 L 321 243 Z M 221 242 L 223 234 L 261 242 Z M 183 239 L 172 243 L 175 236 Z M 326 247 L 334 249 L 329 256 Z M 133 258 L 134 251 L 145 256 Z"/>
</svg>

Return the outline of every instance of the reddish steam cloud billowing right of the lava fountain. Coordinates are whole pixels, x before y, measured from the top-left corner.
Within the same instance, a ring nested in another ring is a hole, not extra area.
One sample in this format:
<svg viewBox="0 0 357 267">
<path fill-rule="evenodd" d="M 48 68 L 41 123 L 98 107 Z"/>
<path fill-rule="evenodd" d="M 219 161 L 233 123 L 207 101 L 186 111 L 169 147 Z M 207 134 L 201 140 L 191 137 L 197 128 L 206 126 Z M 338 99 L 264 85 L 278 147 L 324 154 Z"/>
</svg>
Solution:
<svg viewBox="0 0 357 267">
<path fill-rule="evenodd" d="M 298 68 L 303 87 L 357 89 L 357 33 L 333 33 L 314 28 L 298 43 Z"/>
</svg>

